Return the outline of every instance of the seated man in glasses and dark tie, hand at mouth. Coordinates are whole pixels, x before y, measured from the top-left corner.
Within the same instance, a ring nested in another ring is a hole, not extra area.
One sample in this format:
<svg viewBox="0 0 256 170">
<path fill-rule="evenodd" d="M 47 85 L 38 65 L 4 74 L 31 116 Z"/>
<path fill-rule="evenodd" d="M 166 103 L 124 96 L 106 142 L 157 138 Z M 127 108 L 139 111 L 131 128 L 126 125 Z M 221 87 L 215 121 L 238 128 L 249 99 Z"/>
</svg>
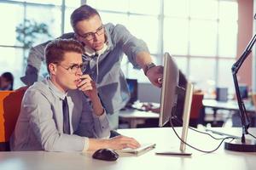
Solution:
<svg viewBox="0 0 256 170">
<path fill-rule="evenodd" d="M 119 150 L 140 145 L 125 136 L 108 139 L 108 118 L 95 82 L 83 75 L 82 54 L 84 48 L 75 40 L 57 39 L 47 45 L 49 78 L 26 90 L 11 150 Z"/>
</svg>

